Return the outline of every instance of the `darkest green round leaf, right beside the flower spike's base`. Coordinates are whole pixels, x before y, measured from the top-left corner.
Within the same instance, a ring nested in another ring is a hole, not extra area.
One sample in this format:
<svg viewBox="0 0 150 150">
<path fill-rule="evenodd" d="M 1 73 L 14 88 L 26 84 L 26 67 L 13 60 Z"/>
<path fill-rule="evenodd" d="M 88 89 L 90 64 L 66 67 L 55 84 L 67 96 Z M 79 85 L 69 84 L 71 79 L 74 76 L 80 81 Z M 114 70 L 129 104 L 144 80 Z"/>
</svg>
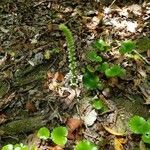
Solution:
<svg viewBox="0 0 150 150">
<path fill-rule="evenodd" d="M 99 77 L 92 72 L 86 72 L 83 76 L 83 84 L 88 90 L 94 90 L 100 87 Z"/>
</svg>

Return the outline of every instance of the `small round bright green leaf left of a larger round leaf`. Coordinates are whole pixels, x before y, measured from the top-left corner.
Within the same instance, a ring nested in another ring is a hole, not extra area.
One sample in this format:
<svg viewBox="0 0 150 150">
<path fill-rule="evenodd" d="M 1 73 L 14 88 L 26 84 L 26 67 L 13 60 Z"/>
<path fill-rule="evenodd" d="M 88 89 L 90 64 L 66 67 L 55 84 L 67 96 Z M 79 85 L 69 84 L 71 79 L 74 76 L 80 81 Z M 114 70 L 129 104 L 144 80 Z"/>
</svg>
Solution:
<svg viewBox="0 0 150 150">
<path fill-rule="evenodd" d="M 40 139 L 47 140 L 50 137 L 50 131 L 48 128 L 42 127 L 39 129 L 37 136 Z"/>
</svg>

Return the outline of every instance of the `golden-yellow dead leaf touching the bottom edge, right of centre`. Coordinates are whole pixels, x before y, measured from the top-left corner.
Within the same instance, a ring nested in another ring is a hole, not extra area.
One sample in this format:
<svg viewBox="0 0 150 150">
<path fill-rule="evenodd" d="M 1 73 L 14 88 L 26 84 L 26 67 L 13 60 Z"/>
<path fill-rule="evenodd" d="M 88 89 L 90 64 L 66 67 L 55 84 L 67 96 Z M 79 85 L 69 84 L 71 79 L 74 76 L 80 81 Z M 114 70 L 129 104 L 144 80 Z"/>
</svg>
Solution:
<svg viewBox="0 0 150 150">
<path fill-rule="evenodd" d="M 124 138 L 115 138 L 114 139 L 114 149 L 115 150 L 124 150 L 123 144 L 127 142 Z"/>
</svg>

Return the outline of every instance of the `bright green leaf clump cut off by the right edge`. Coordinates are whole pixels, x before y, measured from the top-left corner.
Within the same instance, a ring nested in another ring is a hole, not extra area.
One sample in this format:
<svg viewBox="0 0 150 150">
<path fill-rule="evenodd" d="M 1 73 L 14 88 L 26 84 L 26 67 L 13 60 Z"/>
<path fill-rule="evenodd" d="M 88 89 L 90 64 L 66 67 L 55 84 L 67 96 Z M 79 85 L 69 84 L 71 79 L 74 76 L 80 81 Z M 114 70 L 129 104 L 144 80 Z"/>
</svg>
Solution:
<svg viewBox="0 0 150 150">
<path fill-rule="evenodd" d="M 142 134 L 142 140 L 150 144 L 150 121 L 143 117 L 133 116 L 129 121 L 130 130 L 135 134 Z"/>
</svg>

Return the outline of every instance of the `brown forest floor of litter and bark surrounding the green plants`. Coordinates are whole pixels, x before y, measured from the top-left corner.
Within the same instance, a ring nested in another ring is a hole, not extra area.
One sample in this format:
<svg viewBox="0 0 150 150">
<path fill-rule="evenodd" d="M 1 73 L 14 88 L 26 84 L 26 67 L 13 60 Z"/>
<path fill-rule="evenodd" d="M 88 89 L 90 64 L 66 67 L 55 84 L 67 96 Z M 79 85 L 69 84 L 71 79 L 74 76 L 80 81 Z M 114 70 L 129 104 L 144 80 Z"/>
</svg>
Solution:
<svg viewBox="0 0 150 150">
<path fill-rule="evenodd" d="M 75 39 L 79 85 L 67 84 L 69 62 L 64 23 Z M 110 49 L 105 61 L 120 64 L 123 78 L 99 74 L 104 86 L 87 90 L 82 83 L 91 43 L 103 39 Z M 120 43 L 136 42 L 136 53 L 122 56 Z M 100 3 L 80 0 L 8 0 L 0 2 L 0 148 L 8 143 L 38 145 L 37 130 L 66 126 L 74 149 L 87 139 L 104 150 L 145 149 L 140 136 L 129 131 L 134 115 L 150 117 L 150 3 Z M 93 108 L 100 99 L 106 111 Z M 58 147 L 57 147 L 58 149 Z"/>
</svg>

